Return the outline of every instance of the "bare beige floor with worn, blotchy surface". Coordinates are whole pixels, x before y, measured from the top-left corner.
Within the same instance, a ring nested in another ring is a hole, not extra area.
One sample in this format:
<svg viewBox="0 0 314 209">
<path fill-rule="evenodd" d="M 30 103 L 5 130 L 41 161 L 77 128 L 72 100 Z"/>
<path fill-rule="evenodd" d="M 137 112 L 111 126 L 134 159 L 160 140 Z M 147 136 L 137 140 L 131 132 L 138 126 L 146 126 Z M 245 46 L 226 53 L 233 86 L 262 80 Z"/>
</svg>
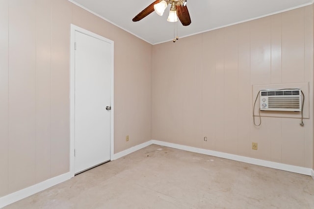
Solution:
<svg viewBox="0 0 314 209">
<path fill-rule="evenodd" d="M 314 209 L 310 176 L 150 145 L 5 209 Z"/>
</svg>

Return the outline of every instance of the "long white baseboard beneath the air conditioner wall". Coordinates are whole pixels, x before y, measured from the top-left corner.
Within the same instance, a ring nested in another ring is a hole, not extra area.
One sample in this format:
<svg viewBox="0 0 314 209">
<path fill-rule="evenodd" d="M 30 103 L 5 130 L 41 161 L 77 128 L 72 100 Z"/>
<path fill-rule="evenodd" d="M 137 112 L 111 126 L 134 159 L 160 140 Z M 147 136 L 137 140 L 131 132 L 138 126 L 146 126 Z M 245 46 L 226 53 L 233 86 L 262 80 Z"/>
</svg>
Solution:
<svg viewBox="0 0 314 209">
<path fill-rule="evenodd" d="M 174 144 L 174 143 L 169 143 L 169 142 L 164 142 L 164 141 L 158 141 L 158 140 L 152 140 L 153 144 L 161 145 L 161 146 L 167 146 L 171 148 L 176 148 L 176 149 L 181 149 L 189 152 L 196 152 L 200 154 L 205 154 L 205 155 L 211 155 L 219 158 L 225 158 L 229 160 L 234 160 L 234 161 L 239 161 L 243 163 L 250 163 L 250 164 L 255 164 L 255 165 L 261 165 L 264 167 L 270 167 L 270 168 L 275 168 L 279 170 L 285 170 L 293 173 L 300 173 L 308 176 L 313 176 L 313 173 L 311 174 L 311 171 L 313 171 L 311 168 L 305 168 L 305 167 L 300 167 L 300 166 L 295 166 L 295 165 L 288 165 L 288 164 L 283 164 L 283 163 L 275 163 L 271 161 L 264 161 L 264 160 L 259 160 L 255 158 L 249 158 L 249 157 L 244 157 L 244 156 L 239 156 L 239 155 L 233 155 L 233 154 L 228 154 L 228 153 L 223 153 L 223 152 L 217 152 L 217 151 L 212 151 L 212 150 L 207 150 L 207 149 L 201 149 L 201 148 L 196 148 L 196 147 L 190 147 L 190 146 L 185 146 L 185 145 L 180 145 L 180 144 Z"/>
</svg>

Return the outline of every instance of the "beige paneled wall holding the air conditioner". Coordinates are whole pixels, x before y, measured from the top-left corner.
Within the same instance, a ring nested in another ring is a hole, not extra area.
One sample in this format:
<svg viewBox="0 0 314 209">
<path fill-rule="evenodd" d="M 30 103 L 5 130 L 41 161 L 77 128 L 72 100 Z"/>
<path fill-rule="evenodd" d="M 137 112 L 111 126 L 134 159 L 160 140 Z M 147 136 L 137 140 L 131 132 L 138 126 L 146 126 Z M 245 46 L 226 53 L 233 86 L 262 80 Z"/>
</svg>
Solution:
<svg viewBox="0 0 314 209">
<path fill-rule="evenodd" d="M 257 84 L 309 82 L 312 112 L 312 5 L 155 45 L 153 57 L 153 139 L 313 167 L 312 117 L 252 117 Z"/>
</svg>

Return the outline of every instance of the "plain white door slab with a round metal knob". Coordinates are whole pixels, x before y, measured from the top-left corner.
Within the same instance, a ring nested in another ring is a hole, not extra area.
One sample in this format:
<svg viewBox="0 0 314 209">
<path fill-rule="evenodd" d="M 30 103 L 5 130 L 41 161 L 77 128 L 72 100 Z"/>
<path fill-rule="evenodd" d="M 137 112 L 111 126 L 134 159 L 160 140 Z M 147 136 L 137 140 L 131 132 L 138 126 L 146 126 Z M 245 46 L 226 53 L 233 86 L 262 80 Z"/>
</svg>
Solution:
<svg viewBox="0 0 314 209">
<path fill-rule="evenodd" d="M 75 31 L 74 173 L 110 160 L 111 46 Z"/>
</svg>

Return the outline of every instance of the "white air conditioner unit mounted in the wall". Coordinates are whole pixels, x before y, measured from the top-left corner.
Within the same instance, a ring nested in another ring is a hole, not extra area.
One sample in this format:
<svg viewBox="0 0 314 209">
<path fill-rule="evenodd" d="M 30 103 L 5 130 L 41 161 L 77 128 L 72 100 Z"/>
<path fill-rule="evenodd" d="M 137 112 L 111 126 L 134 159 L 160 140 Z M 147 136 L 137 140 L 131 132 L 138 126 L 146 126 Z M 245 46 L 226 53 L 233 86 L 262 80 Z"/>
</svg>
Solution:
<svg viewBox="0 0 314 209">
<path fill-rule="evenodd" d="M 260 109 L 275 111 L 301 111 L 301 90 L 260 91 Z"/>
</svg>

